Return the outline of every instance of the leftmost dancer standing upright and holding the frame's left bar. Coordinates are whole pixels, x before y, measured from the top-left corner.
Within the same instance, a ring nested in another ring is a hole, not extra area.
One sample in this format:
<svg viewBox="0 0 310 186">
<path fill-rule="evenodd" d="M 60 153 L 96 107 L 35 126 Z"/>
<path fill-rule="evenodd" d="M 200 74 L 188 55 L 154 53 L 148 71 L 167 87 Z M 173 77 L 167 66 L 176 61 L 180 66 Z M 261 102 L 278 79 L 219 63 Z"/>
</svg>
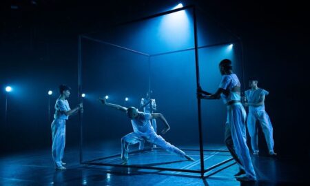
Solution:
<svg viewBox="0 0 310 186">
<path fill-rule="evenodd" d="M 68 98 L 71 88 L 67 85 L 60 85 L 60 96 L 56 100 L 54 121 L 52 122 L 52 158 L 56 169 L 63 170 L 65 163 L 62 162 L 63 151 L 65 149 L 65 121 L 69 116 L 81 110 L 83 105 L 80 103 L 73 110 L 70 110 Z"/>
</svg>

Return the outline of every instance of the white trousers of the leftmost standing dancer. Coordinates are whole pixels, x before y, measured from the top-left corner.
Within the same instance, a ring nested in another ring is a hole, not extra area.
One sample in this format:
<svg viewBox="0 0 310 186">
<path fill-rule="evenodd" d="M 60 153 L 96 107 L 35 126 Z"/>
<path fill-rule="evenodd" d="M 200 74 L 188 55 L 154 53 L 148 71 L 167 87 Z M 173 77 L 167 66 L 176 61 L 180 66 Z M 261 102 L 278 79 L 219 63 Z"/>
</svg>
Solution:
<svg viewBox="0 0 310 186">
<path fill-rule="evenodd" d="M 52 158 L 56 167 L 61 167 L 65 150 L 65 119 L 54 119 L 52 122 Z"/>
</svg>

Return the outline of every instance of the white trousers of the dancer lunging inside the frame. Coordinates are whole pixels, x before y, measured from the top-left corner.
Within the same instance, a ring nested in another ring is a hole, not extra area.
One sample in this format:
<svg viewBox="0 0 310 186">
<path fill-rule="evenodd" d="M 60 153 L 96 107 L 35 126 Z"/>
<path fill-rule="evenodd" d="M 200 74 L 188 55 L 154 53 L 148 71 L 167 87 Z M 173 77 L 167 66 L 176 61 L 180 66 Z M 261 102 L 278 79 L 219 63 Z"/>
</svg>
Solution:
<svg viewBox="0 0 310 186">
<path fill-rule="evenodd" d="M 167 152 L 172 152 L 174 154 L 177 154 L 178 156 L 181 156 L 181 157 L 185 156 L 185 152 L 183 152 L 182 150 L 178 149 L 174 145 L 171 145 L 170 143 L 165 141 L 165 139 L 160 135 L 149 134 L 149 135 L 141 136 L 139 134 L 136 134 L 135 132 L 132 132 L 130 134 L 127 134 L 126 136 L 123 136 L 123 138 L 121 138 L 122 160 L 127 161 L 128 159 L 129 145 L 134 145 L 142 141 L 147 141 L 154 145 L 158 145 L 158 147 L 165 149 Z"/>
</svg>

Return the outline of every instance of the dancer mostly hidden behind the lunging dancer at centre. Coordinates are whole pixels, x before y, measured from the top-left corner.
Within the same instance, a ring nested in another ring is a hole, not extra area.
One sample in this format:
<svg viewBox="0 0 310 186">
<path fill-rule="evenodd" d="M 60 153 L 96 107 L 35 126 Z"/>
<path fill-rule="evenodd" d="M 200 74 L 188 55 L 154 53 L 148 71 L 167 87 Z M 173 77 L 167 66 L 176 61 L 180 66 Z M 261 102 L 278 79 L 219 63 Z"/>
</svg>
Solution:
<svg viewBox="0 0 310 186">
<path fill-rule="evenodd" d="M 147 92 L 146 94 L 146 98 L 142 98 L 141 99 L 141 105 L 140 105 L 140 109 L 143 110 L 143 112 L 145 113 L 149 113 L 152 114 L 154 111 L 156 111 L 156 102 L 155 99 L 152 99 L 152 90 L 150 90 L 149 92 Z M 152 119 L 151 124 L 154 128 L 155 133 L 157 133 L 157 125 L 156 125 L 156 119 Z M 139 143 L 139 149 L 143 149 L 144 147 L 144 141 L 141 141 Z M 156 145 L 153 145 L 153 147 L 155 148 Z"/>
</svg>

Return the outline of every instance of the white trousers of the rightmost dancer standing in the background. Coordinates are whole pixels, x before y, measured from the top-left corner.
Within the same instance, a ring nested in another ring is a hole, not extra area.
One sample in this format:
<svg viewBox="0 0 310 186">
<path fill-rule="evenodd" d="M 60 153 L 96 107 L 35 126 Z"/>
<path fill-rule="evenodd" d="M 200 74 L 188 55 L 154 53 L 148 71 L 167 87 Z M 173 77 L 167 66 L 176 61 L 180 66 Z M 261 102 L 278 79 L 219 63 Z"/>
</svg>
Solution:
<svg viewBox="0 0 310 186">
<path fill-rule="evenodd" d="M 251 136 L 251 147 L 254 152 L 258 152 L 258 124 L 262 127 L 262 132 L 265 135 L 267 146 L 269 152 L 273 152 L 273 128 L 271 125 L 270 118 L 265 111 L 249 112 L 247 116 L 247 129 L 249 130 L 249 135 Z"/>
</svg>

